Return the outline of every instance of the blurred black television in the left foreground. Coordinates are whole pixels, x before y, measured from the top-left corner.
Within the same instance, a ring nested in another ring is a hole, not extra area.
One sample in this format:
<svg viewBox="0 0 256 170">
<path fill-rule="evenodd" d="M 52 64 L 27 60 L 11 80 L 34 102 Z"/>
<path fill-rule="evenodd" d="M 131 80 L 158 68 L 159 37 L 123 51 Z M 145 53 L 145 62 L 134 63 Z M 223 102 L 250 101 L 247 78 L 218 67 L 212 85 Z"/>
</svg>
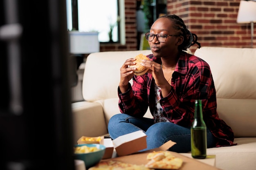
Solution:
<svg viewBox="0 0 256 170">
<path fill-rule="evenodd" d="M 0 170 L 73 170 L 65 1 L 0 1 Z"/>
</svg>

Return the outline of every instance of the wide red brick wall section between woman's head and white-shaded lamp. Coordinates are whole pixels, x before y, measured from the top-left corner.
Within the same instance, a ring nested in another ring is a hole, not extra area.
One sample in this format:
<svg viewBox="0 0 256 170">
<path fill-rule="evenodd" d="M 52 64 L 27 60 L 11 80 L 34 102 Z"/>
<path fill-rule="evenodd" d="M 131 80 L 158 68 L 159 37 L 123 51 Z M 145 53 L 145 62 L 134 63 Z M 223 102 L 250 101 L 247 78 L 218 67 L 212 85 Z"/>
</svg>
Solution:
<svg viewBox="0 0 256 170">
<path fill-rule="evenodd" d="M 167 13 L 179 15 L 202 46 L 250 48 L 250 24 L 236 23 L 239 4 L 240 0 L 167 0 Z"/>
</svg>

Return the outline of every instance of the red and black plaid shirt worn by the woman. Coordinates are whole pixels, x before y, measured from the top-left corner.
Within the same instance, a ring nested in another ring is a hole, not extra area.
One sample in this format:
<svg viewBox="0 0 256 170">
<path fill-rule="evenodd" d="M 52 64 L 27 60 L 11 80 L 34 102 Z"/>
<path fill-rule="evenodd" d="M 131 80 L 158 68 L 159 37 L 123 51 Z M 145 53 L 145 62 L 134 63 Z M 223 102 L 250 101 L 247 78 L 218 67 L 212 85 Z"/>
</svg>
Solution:
<svg viewBox="0 0 256 170">
<path fill-rule="evenodd" d="M 161 64 L 161 60 L 150 54 L 147 56 Z M 152 113 L 155 109 L 155 80 L 152 74 L 133 76 L 132 86 L 126 93 L 119 94 L 119 108 L 121 113 L 135 117 L 143 117 L 148 109 Z M 199 57 L 182 52 L 177 62 L 171 81 L 171 92 L 162 97 L 160 104 L 164 116 L 172 123 L 190 127 L 194 119 L 195 99 L 202 100 L 203 118 L 207 128 L 219 140 L 216 147 L 234 145 L 233 130 L 218 117 L 216 90 L 207 62 Z"/>
</svg>

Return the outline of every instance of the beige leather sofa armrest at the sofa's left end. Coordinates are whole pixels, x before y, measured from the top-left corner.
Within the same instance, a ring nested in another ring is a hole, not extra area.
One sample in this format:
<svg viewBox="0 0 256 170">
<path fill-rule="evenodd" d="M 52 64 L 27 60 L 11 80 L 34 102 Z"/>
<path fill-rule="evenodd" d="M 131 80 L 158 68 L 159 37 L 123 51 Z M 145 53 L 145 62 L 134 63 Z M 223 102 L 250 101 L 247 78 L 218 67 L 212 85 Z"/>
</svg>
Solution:
<svg viewBox="0 0 256 170">
<path fill-rule="evenodd" d="M 101 104 L 94 102 L 72 103 L 74 144 L 82 136 L 98 137 L 108 133 Z"/>
</svg>

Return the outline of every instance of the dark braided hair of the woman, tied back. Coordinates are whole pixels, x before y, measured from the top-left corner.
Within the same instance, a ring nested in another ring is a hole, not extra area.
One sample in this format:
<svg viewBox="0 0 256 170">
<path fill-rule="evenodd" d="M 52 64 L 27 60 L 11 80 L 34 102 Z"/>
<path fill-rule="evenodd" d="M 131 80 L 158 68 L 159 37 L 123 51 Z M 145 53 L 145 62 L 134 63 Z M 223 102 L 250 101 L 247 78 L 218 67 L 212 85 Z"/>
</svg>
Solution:
<svg viewBox="0 0 256 170">
<path fill-rule="evenodd" d="M 180 35 L 184 38 L 182 44 L 178 46 L 179 51 L 186 51 L 190 46 L 198 44 L 198 49 L 201 48 L 201 44 L 197 42 L 198 36 L 191 33 L 184 24 L 184 21 L 177 15 L 162 15 L 159 18 L 168 18 L 173 22 L 173 28 L 180 32 Z M 158 19 L 159 19 L 158 18 Z"/>
</svg>

